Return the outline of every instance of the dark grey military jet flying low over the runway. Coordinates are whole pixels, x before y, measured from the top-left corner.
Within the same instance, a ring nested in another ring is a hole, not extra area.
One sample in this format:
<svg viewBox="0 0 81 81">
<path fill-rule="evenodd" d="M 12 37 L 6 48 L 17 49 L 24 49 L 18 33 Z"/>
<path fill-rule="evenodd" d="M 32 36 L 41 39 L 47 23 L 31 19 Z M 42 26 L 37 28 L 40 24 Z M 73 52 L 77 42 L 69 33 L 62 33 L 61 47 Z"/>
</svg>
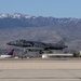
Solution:
<svg viewBox="0 0 81 81">
<path fill-rule="evenodd" d="M 68 48 L 65 45 L 64 41 L 59 41 L 57 43 L 44 43 L 39 41 L 27 41 L 24 39 L 15 40 L 6 43 L 8 45 L 21 46 L 26 48 L 28 51 L 50 51 L 50 50 L 63 50 Z"/>
</svg>

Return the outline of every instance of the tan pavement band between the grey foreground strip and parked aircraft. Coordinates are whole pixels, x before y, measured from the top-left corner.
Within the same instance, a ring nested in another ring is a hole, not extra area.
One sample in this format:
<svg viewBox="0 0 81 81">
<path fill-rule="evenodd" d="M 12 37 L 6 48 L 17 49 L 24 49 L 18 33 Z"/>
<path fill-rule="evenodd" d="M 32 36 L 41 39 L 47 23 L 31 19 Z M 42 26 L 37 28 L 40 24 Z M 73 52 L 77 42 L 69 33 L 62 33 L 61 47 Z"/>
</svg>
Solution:
<svg viewBox="0 0 81 81">
<path fill-rule="evenodd" d="M 81 60 L 0 59 L 0 69 L 81 69 Z"/>
</svg>

